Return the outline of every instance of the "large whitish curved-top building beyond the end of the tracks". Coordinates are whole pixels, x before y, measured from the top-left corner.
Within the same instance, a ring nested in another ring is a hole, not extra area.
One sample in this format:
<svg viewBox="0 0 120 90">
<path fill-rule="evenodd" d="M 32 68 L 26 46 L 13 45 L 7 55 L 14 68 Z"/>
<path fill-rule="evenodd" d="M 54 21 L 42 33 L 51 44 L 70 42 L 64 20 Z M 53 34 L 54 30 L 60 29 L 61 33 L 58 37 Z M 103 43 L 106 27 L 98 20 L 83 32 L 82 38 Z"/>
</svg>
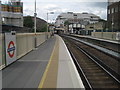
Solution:
<svg viewBox="0 0 120 90">
<path fill-rule="evenodd" d="M 92 13 L 67 12 L 62 13 L 57 17 L 55 25 L 57 28 L 68 27 L 70 33 L 76 33 L 77 31 L 85 29 L 85 25 L 97 23 L 99 19 L 99 16 Z"/>
</svg>

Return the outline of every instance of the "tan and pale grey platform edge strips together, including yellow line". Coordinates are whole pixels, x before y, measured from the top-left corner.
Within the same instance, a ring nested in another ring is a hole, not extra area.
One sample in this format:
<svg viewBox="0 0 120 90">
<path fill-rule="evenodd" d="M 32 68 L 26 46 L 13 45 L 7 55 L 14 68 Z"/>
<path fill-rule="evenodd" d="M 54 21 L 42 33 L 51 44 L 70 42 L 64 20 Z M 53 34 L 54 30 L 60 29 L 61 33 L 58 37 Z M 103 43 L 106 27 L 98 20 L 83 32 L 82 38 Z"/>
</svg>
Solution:
<svg viewBox="0 0 120 90">
<path fill-rule="evenodd" d="M 61 37 L 56 43 L 39 88 L 84 88 L 70 53 Z"/>
</svg>

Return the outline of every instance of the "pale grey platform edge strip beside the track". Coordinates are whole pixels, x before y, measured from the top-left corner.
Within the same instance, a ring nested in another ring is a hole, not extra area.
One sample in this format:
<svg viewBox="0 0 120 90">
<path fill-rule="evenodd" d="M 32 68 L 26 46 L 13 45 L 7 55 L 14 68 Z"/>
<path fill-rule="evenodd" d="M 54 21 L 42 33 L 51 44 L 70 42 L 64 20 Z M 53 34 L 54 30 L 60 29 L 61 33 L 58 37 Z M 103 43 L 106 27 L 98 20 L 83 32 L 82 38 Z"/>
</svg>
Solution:
<svg viewBox="0 0 120 90">
<path fill-rule="evenodd" d="M 58 63 L 57 88 L 84 88 L 72 57 L 60 37 Z"/>
</svg>

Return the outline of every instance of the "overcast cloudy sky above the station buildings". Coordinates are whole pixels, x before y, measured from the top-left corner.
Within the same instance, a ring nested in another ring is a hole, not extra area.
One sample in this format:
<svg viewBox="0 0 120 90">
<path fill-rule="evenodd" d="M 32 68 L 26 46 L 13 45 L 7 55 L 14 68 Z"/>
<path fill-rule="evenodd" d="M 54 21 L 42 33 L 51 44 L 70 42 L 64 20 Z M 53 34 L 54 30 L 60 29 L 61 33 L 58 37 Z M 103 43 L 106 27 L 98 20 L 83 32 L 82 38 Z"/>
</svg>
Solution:
<svg viewBox="0 0 120 90">
<path fill-rule="evenodd" d="M 6 1 L 8 0 L 2 0 L 2 2 Z M 33 16 L 35 0 L 22 1 L 24 15 Z M 107 0 L 37 0 L 37 16 L 46 20 L 47 12 L 55 12 L 55 14 L 49 15 L 49 21 L 56 19 L 62 12 L 89 12 L 107 19 Z"/>
</svg>

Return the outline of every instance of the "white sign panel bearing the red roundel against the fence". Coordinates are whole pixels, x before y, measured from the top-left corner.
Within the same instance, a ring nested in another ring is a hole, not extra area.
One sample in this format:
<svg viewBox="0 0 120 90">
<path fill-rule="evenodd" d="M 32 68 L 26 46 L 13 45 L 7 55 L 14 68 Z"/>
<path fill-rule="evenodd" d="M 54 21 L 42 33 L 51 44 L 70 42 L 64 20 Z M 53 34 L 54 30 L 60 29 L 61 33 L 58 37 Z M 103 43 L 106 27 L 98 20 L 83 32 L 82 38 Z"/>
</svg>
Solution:
<svg viewBox="0 0 120 90">
<path fill-rule="evenodd" d="M 6 65 L 16 61 L 16 35 L 5 33 Z"/>
</svg>

